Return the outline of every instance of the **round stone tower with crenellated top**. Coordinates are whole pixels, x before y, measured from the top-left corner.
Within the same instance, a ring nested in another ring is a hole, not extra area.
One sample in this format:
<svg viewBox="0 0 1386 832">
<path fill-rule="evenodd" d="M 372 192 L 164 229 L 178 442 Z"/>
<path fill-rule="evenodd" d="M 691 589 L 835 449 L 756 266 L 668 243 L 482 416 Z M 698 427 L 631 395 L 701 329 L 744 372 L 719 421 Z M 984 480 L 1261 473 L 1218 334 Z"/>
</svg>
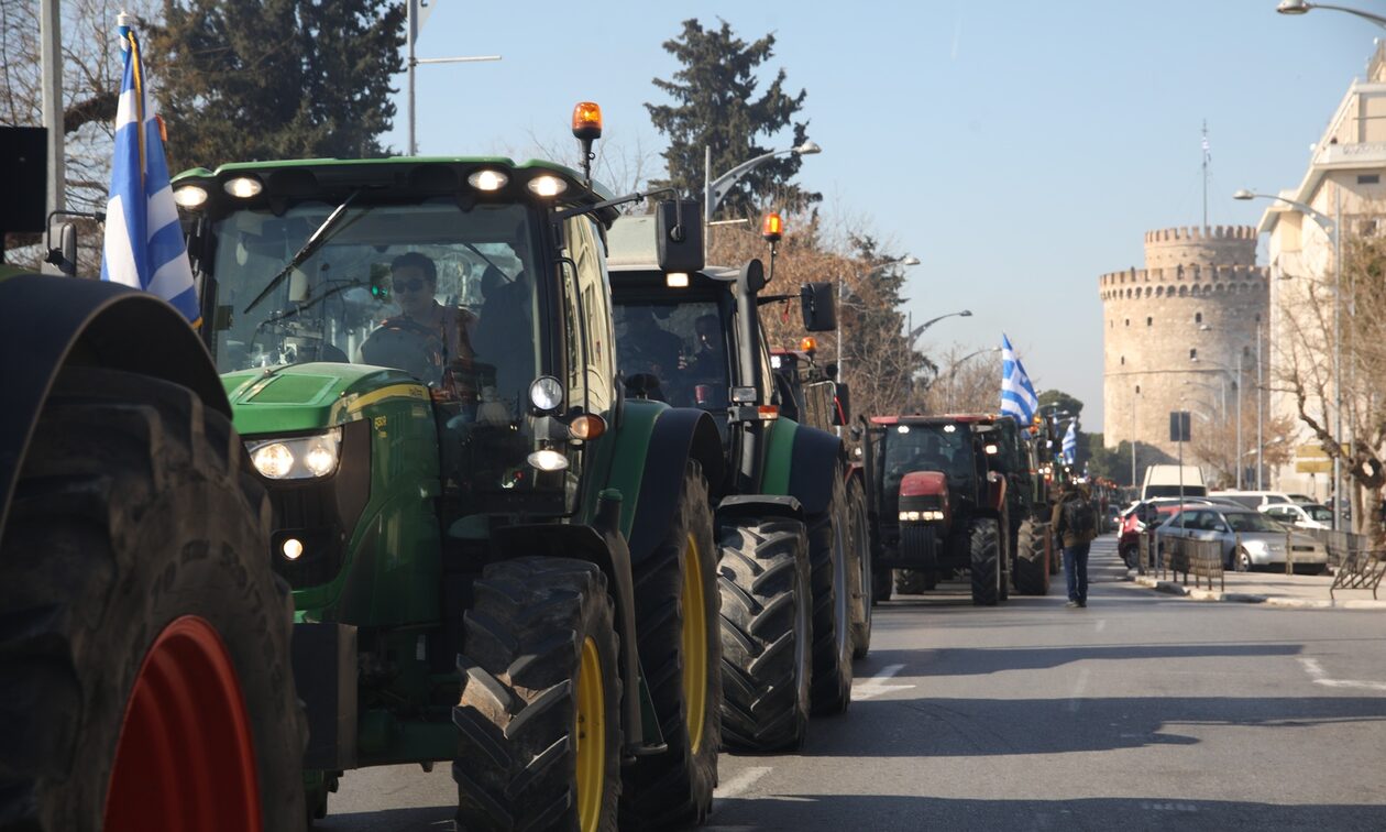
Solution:
<svg viewBox="0 0 1386 832">
<path fill-rule="evenodd" d="M 1109 448 L 1134 437 L 1142 449 L 1149 445 L 1173 460 L 1170 412 L 1202 412 L 1193 430 L 1204 431 L 1209 419 L 1224 419 L 1224 397 L 1227 424 L 1235 426 L 1238 354 L 1245 370 L 1242 408 L 1254 420 L 1256 331 L 1270 309 L 1265 270 L 1256 265 L 1254 227 L 1146 232 L 1145 268 L 1103 275 L 1099 286 Z M 1137 477 L 1155 462 L 1155 455 L 1142 456 Z M 1185 445 L 1185 463 L 1196 465 L 1188 456 Z"/>
</svg>

